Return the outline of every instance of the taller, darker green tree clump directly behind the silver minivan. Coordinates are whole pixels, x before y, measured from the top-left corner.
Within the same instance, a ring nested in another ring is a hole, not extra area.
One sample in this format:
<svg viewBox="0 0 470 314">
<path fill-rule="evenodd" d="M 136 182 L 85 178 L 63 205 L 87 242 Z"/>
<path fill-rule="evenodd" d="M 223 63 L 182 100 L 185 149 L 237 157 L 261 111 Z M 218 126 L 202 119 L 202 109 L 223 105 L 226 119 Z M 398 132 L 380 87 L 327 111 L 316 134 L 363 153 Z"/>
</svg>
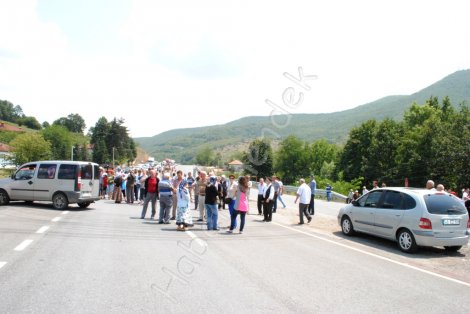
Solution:
<svg viewBox="0 0 470 314">
<path fill-rule="evenodd" d="M 470 112 L 448 98 L 413 104 L 402 121 L 370 120 L 351 130 L 336 167 L 345 180 L 364 177 L 388 185 L 423 186 L 428 179 L 456 189 L 470 186 Z"/>
</svg>

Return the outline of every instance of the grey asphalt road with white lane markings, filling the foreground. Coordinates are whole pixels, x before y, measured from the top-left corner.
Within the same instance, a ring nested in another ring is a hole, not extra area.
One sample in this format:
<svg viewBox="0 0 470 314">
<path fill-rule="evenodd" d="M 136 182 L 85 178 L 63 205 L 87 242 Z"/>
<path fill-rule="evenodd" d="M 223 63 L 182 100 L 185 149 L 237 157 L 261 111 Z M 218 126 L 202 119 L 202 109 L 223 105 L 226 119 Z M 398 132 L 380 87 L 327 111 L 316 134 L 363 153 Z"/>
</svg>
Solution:
<svg viewBox="0 0 470 314">
<path fill-rule="evenodd" d="M 287 205 L 272 223 L 252 210 L 244 234 L 178 232 L 108 200 L 0 207 L 0 313 L 469 312 L 468 248 L 410 256 L 342 237 L 340 204 L 317 202 L 309 226 Z"/>
</svg>

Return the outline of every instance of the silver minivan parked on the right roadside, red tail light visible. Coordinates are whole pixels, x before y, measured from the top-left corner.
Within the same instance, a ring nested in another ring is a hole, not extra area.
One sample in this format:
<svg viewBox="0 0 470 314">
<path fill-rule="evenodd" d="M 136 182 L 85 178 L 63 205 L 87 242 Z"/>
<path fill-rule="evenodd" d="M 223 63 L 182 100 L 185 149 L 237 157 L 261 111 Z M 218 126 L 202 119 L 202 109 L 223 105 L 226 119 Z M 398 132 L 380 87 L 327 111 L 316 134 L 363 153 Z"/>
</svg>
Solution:
<svg viewBox="0 0 470 314">
<path fill-rule="evenodd" d="M 391 239 L 404 252 L 419 246 L 458 251 L 469 240 L 469 215 L 462 201 L 435 190 L 372 190 L 343 207 L 338 223 L 345 235 L 357 231 Z"/>
</svg>

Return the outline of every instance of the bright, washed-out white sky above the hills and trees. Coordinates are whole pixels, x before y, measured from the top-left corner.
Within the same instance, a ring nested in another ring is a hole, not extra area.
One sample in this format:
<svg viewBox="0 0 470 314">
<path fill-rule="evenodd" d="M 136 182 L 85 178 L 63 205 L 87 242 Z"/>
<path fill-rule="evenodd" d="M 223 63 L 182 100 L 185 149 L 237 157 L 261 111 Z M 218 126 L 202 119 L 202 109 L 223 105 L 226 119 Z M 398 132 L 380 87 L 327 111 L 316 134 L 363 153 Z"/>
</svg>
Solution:
<svg viewBox="0 0 470 314">
<path fill-rule="evenodd" d="M 0 0 L 0 99 L 132 136 L 349 109 L 470 68 L 469 1 Z"/>
</svg>

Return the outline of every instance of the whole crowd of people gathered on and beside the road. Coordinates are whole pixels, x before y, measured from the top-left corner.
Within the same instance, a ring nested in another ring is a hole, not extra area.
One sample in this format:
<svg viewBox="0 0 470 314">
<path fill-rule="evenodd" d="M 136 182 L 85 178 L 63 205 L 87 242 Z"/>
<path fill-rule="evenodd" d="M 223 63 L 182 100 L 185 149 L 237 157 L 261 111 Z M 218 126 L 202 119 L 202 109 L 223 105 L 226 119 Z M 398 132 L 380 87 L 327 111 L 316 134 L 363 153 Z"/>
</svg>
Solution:
<svg viewBox="0 0 470 314">
<path fill-rule="evenodd" d="M 241 176 L 235 180 L 234 175 L 229 175 L 228 179 L 222 176 L 215 176 L 213 173 L 199 171 L 194 177 L 192 172 L 183 173 L 181 170 L 176 173 L 165 172 L 164 169 L 138 169 L 123 171 L 120 168 L 116 172 L 101 169 L 100 190 L 101 198 L 114 200 L 115 203 L 125 201 L 128 204 L 142 205 L 141 219 L 147 216 L 149 204 L 151 205 L 150 219 L 155 219 L 157 215 L 157 201 L 160 205 L 158 214 L 159 224 L 170 224 L 175 220 L 177 230 L 184 231 L 194 226 L 191 206 L 197 210 L 199 216 L 197 222 L 206 223 L 207 230 L 220 230 L 218 212 L 227 207 L 230 213 L 231 222 L 227 227 L 227 232 L 232 233 L 237 228 L 237 219 L 240 216 L 239 233 L 243 233 L 245 227 L 246 214 L 249 212 L 250 190 L 252 181 L 249 176 Z M 171 170 L 171 169 L 170 169 Z M 373 188 L 379 187 L 374 181 Z M 382 184 L 382 187 L 386 187 Z M 426 184 L 428 189 L 444 191 L 442 184 L 434 188 L 434 182 L 429 180 Z M 327 200 L 331 200 L 331 185 L 327 185 Z M 299 188 L 296 192 L 294 203 L 299 201 L 299 224 L 304 224 L 304 216 L 307 223 L 310 223 L 315 214 L 315 194 L 317 184 L 312 175 L 310 182 L 304 179 L 299 180 Z M 363 193 L 368 190 L 364 186 Z M 449 193 L 455 194 L 453 191 Z M 469 190 L 464 189 L 462 200 L 470 205 Z M 272 176 L 260 178 L 258 182 L 257 210 L 258 215 L 263 216 L 264 222 L 272 221 L 273 213 L 277 211 L 278 202 L 286 208 L 282 198 L 284 185 L 279 177 Z M 358 199 L 361 194 L 350 190 L 347 202 Z M 468 206 L 467 206 L 468 207 Z"/>
</svg>

